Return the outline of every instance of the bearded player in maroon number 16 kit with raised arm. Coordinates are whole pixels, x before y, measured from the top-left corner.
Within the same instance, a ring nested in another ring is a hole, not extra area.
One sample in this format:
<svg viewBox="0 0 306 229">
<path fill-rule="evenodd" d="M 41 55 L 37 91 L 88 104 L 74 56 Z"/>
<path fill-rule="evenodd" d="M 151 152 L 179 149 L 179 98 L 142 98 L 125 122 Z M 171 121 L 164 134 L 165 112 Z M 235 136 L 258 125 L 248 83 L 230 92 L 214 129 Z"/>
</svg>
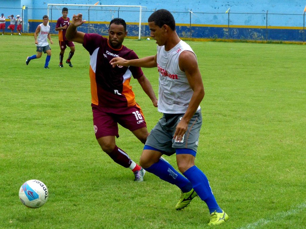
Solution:
<svg viewBox="0 0 306 229">
<path fill-rule="evenodd" d="M 127 35 L 125 21 L 121 18 L 110 21 L 108 39 L 98 34 L 77 31 L 76 28 L 84 22 L 82 14 L 73 15 L 66 38 L 83 44 L 90 54 L 91 107 L 96 139 L 114 162 L 134 172 L 135 181 L 143 181 L 145 170 L 117 147 L 115 137 L 119 137 L 118 123 L 129 129 L 143 144 L 148 136 L 144 116 L 129 85 L 132 76 L 138 80 L 153 105 L 157 107 L 155 93 L 140 67 L 113 68 L 109 63 L 115 56 L 125 59 L 138 58 L 133 50 L 122 45 Z"/>
</svg>

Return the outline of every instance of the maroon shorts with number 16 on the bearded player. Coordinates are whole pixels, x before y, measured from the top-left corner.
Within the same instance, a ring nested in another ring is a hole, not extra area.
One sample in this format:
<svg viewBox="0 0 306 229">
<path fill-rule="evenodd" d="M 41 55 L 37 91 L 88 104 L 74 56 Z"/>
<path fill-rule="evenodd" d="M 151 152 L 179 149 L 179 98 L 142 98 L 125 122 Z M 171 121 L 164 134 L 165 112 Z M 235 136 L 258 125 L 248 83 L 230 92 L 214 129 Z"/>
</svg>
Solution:
<svg viewBox="0 0 306 229">
<path fill-rule="evenodd" d="M 147 127 L 144 115 L 138 104 L 132 107 L 110 108 L 91 104 L 96 139 L 104 136 L 116 136 L 118 123 L 130 131 Z"/>
</svg>

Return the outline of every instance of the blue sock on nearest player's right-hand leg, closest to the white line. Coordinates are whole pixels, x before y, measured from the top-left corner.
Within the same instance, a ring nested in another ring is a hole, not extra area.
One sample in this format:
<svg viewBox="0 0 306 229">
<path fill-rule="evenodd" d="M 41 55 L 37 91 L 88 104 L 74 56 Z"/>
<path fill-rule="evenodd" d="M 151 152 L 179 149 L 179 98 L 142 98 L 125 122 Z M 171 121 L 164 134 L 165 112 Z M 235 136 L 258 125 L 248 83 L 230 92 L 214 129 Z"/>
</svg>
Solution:
<svg viewBox="0 0 306 229">
<path fill-rule="evenodd" d="M 188 180 L 190 180 L 194 191 L 196 191 L 201 200 L 205 201 L 209 212 L 213 213 L 214 211 L 217 211 L 218 213 L 222 213 L 222 209 L 217 204 L 205 174 L 200 169 L 198 169 L 196 165 L 187 169 L 183 174 L 187 177 Z"/>
</svg>

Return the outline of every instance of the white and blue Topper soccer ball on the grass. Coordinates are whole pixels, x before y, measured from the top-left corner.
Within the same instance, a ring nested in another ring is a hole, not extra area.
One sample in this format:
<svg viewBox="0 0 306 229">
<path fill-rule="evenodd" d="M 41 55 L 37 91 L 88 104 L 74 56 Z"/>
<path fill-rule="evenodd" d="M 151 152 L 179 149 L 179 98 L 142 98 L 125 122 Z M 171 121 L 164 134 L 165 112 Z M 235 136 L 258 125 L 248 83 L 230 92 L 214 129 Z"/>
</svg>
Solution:
<svg viewBox="0 0 306 229">
<path fill-rule="evenodd" d="M 48 200 L 47 186 L 39 180 L 28 180 L 19 189 L 21 203 L 29 208 L 39 208 Z"/>
</svg>

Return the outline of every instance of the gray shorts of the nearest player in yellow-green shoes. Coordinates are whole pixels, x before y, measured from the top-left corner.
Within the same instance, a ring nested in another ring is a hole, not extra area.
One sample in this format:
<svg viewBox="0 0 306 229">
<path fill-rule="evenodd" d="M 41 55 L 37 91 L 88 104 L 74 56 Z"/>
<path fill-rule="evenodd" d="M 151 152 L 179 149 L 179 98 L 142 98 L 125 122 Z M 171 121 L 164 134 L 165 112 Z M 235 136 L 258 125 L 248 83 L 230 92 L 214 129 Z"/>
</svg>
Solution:
<svg viewBox="0 0 306 229">
<path fill-rule="evenodd" d="M 202 125 L 201 110 L 197 111 L 191 118 L 183 140 L 176 142 L 173 139 L 175 128 L 183 116 L 184 114 L 163 114 L 162 118 L 151 130 L 146 145 L 154 147 L 168 156 L 174 154 L 176 148 L 197 151 Z"/>
</svg>

